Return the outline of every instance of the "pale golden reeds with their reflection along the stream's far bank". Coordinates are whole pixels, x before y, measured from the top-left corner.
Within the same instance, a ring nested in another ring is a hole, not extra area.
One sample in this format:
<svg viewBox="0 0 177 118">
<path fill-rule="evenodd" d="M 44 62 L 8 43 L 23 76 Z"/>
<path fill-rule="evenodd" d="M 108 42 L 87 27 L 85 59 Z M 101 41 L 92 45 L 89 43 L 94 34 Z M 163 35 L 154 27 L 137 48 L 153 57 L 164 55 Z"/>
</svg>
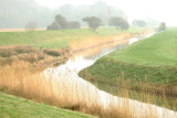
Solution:
<svg viewBox="0 0 177 118">
<path fill-rule="evenodd" d="M 122 33 L 108 37 L 91 36 L 82 41 L 72 41 L 70 43 L 70 50 L 72 56 L 91 56 L 101 52 L 102 49 L 111 49 L 116 45 L 127 44 L 131 37 L 133 37 L 133 35 L 129 33 Z"/>
</svg>

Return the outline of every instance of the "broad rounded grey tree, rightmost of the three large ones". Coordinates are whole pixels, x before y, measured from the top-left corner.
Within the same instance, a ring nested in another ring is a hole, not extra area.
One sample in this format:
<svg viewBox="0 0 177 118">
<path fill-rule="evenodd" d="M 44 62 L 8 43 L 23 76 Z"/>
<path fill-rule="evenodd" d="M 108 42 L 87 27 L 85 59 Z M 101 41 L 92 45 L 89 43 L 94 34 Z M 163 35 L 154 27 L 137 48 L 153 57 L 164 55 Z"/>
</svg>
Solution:
<svg viewBox="0 0 177 118">
<path fill-rule="evenodd" d="M 127 30 L 129 28 L 128 22 L 125 19 L 119 18 L 119 17 L 111 18 L 108 21 L 108 24 L 114 25 L 121 30 Z"/>
</svg>

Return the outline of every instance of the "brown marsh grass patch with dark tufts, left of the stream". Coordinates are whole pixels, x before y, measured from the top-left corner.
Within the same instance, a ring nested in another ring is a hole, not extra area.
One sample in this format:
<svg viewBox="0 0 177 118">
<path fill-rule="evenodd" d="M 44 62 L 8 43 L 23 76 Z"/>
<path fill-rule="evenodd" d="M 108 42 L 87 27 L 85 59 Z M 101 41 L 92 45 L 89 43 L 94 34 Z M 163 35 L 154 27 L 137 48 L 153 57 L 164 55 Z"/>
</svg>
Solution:
<svg viewBox="0 0 177 118">
<path fill-rule="evenodd" d="M 38 49 L 28 45 L 0 46 L 0 66 L 11 65 L 15 62 L 28 62 L 35 65 L 35 68 L 55 66 L 67 60 L 67 49 Z"/>
</svg>

